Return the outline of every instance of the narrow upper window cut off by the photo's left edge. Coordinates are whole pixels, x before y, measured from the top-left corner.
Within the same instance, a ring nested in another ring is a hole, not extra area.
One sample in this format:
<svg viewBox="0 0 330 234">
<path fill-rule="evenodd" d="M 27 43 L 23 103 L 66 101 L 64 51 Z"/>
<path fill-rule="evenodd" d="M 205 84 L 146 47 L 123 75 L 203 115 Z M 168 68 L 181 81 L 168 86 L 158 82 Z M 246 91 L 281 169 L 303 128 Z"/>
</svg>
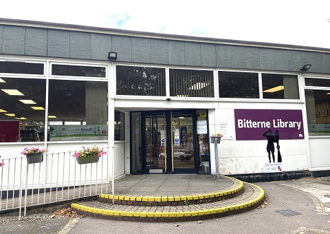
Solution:
<svg viewBox="0 0 330 234">
<path fill-rule="evenodd" d="M 43 75 L 43 71 L 43 63 L 0 62 L 0 73 Z"/>
</svg>

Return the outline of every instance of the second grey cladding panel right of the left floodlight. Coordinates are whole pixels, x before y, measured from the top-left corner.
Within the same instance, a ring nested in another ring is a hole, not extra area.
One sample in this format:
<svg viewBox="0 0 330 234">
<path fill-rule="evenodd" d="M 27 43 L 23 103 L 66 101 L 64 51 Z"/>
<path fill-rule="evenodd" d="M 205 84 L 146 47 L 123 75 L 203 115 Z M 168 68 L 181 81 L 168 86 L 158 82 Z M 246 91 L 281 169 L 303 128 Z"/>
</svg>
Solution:
<svg viewBox="0 0 330 234">
<path fill-rule="evenodd" d="M 132 37 L 132 62 L 150 63 L 150 39 Z"/>
</svg>

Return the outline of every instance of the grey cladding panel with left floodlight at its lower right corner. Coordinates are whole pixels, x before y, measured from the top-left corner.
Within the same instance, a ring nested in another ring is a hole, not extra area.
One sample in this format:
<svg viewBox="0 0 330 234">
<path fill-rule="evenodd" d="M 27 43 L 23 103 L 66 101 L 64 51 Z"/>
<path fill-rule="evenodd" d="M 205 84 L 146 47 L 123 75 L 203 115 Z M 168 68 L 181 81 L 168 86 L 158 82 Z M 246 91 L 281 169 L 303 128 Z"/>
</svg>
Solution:
<svg viewBox="0 0 330 234">
<path fill-rule="evenodd" d="M 91 34 L 91 59 L 108 60 L 108 53 L 112 52 L 112 37 L 104 34 Z"/>
</svg>

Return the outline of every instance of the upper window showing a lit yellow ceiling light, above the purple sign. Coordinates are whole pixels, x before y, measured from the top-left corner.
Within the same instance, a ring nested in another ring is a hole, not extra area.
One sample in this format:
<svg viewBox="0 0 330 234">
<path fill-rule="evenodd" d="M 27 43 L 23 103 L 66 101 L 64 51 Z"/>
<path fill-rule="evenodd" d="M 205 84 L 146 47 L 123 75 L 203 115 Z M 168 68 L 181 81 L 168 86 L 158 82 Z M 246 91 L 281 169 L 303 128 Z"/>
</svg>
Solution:
<svg viewBox="0 0 330 234">
<path fill-rule="evenodd" d="M 299 99 L 298 76 L 287 74 L 261 74 L 263 98 Z"/>
</svg>

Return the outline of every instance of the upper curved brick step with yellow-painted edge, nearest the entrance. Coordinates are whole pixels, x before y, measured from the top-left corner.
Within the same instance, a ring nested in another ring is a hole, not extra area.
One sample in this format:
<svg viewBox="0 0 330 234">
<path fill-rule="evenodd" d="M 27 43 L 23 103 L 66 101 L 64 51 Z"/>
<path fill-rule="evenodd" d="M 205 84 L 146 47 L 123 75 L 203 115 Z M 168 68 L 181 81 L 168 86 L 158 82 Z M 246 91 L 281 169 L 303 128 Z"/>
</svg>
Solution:
<svg viewBox="0 0 330 234">
<path fill-rule="evenodd" d="M 189 193 L 184 195 L 125 195 L 100 194 L 99 202 L 129 204 L 134 206 L 182 206 L 184 204 L 201 204 L 217 202 L 236 197 L 243 193 L 243 182 L 231 178 L 232 186 L 208 193 Z M 114 198 L 114 200 L 113 200 Z"/>
</svg>

